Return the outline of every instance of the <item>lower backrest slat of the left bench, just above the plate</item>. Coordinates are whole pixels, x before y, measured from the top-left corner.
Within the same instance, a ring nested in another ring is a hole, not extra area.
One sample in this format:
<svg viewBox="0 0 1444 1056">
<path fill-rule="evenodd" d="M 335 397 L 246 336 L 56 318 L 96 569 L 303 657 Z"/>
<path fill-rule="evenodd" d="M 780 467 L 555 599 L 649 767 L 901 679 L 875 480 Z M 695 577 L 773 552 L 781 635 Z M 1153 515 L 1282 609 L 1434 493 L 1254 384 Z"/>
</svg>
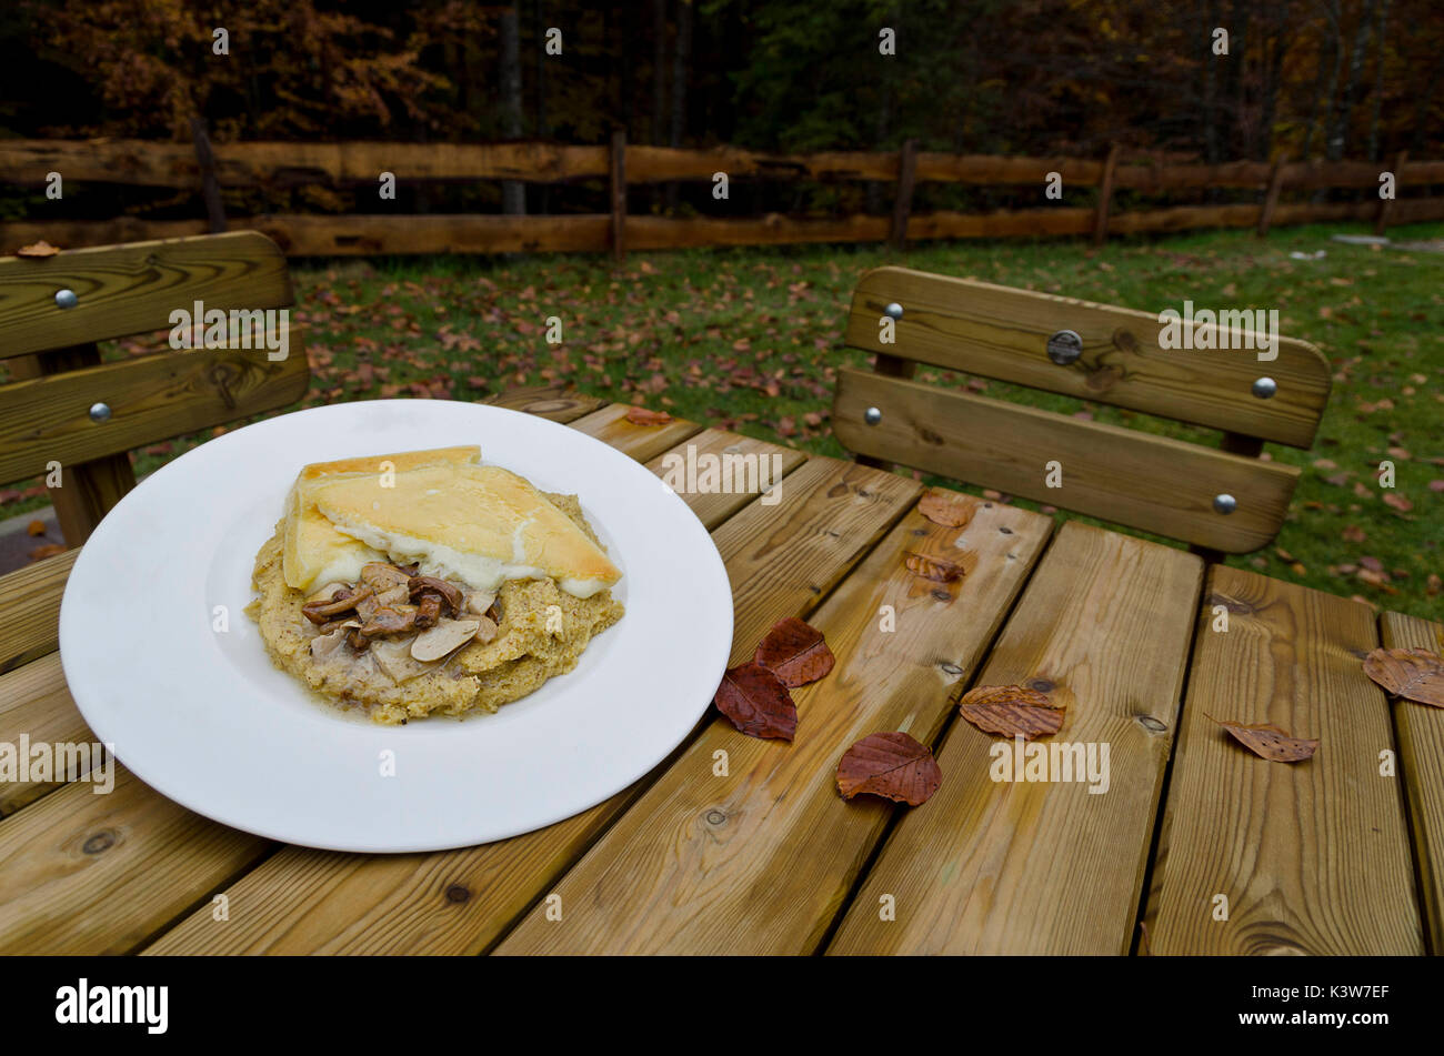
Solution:
<svg viewBox="0 0 1444 1056">
<path fill-rule="evenodd" d="M 306 394 L 306 355 L 264 351 L 163 352 L 0 385 L 0 480 L 107 454 L 284 407 Z M 105 402 L 108 421 L 90 418 Z"/>
</svg>

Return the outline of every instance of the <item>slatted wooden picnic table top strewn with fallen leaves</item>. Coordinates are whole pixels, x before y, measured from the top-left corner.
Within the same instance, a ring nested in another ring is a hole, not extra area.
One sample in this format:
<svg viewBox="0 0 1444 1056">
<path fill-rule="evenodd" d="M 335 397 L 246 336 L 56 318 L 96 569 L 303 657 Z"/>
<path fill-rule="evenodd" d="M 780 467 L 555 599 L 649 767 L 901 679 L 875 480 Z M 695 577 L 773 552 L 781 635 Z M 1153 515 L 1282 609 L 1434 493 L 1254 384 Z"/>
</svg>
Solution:
<svg viewBox="0 0 1444 1056">
<path fill-rule="evenodd" d="M 794 691 L 796 742 L 745 737 L 712 711 L 612 799 L 430 854 L 279 845 L 123 766 L 108 795 L 0 783 L 0 952 L 1444 949 L 1444 710 L 1391 703 L 1360 668 L 1380 643 L 1438 651 L 1440 625 L 1001 502 L 959 495 L 973 516 L 949 529 L 918 512 L 910 478 L 682 420 L 635 426 L 624 405 L 492 402 L 657 472 L 687 444 L 781 456 L 775 505 L 683 498 L 732 580 L 732 662 L 784 616 L 838 656 Z M 918 590 L 905 554 L 954 542 L 976 561 L 956 597 Z M 0 743 L 91 740 L 56 652 L 72 563 L 0 580 Z M 1054 740 L 1106 744 L 1106 792 L 993 780 L 993 739 L 957 717 L 975 684 L 1064 700 Z M 1209 716 L 1321 747 L 1266 762 Z M 934 746 L 943 782 L 927 804 L 839 798 L 839 756 L 884 730 Z"/>
</svg>

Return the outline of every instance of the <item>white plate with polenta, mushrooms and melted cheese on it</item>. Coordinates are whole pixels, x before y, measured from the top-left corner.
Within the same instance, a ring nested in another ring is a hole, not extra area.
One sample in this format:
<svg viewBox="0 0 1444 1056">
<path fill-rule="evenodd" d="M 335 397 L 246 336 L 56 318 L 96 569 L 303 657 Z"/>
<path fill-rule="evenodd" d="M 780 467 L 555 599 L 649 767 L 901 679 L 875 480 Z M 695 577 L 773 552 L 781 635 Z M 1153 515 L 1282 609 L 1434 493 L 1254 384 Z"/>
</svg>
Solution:
<svg viewBox="0 0 1444 1056">
<path fill-rule="evenodd" d="M 97 740 L 273 840 L 426 851 L 530 832 L 687 736 L 732 593 L 687 505 L 566 426 L 430 400 L 238 428 L 81 550 L 61 661 Z"/>
</svg>

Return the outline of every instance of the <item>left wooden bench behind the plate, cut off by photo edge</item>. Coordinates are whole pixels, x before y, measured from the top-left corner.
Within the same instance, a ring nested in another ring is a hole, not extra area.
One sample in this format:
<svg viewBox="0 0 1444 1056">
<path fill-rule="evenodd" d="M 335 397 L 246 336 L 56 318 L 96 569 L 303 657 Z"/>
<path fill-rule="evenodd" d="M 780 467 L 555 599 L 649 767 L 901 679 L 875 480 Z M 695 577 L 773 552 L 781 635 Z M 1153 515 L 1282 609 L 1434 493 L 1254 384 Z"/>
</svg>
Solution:
<svg viewBox="0 0 1444 1056">
<path fill-rule="evenodd" d="M 280 250 L 261 234 L 175 238 L 0 258 L 0 482 L 43 475 L 65 541 L 81 545 L 136 486 L 129 452 L 295 402 L 299 342 L 101 362 L 97 342 L 178 329 L 172 313 L 283 309 Z M 296 335 L 292 333 L 292 338 Z"/>
</svg>

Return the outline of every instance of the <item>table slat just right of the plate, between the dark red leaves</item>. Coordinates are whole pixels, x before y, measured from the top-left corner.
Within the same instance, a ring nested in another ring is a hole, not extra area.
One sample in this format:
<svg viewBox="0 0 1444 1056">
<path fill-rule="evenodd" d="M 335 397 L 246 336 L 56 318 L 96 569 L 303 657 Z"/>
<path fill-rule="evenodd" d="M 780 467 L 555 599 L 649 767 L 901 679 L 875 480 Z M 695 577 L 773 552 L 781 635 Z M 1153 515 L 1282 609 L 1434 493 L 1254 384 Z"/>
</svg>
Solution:
<svg viewBox="0 0 1444 1056">
<path fill-rule="evenodd" d="M 702 737 L 533 910 L 498 954 L 799 954 L 816 949 L 882 835 L 891 805 L 839 798 L 838 759 L 882 730 L 931 743 L 1002 622 L 1053 522 L 959 496 L 943 528 L 915 509 L 812 617 L 838 666 L 793 691 L 791 744 L 713 717 Z M 956 596 L 904 566 L 908 551 L 976 561 Z M 933 591 L 940 591 L 940 596 Z M 892 610 L 891 616 L 881 616 Z M 754 638 L 738 641 L 749 658 Z M 725 756 L 726 775 L 718 759 Z"/>
</svg>

